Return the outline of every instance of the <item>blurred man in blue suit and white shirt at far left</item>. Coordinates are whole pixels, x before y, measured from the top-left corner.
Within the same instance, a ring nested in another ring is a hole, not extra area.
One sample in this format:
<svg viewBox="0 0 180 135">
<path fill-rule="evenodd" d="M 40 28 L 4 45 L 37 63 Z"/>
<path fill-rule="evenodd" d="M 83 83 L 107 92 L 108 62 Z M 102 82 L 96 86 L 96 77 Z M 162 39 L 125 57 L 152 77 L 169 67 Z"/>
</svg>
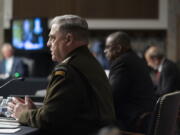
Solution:
<svg viewBox="0 0 180 135">
<path fill-rule="evenodd" d="M 25 74 L 23 61 L 14 56 L 14 50 L 9 43 L 3 44 L 1 48 L 3 59 L 0 61 L 0 78 L 6 79 L 14 76 L 15 73 Z"/>
</svg>

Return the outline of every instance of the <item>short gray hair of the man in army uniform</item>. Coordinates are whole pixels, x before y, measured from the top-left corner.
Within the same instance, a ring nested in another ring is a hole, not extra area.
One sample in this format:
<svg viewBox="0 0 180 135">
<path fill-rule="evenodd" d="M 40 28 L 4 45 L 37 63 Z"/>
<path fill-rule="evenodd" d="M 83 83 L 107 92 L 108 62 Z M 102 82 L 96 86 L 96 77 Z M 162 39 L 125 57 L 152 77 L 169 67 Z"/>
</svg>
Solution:
<svg viewBox="0 0 180 135">
<path fill-rule="evenodd" d="M 77 15 L 56 16 L 50 23 L 59 25 L 59 31 L 63 33 L 72 33 L 76 40 L 88 42 L 88 24 L 85 19 Z"/>
</svg>

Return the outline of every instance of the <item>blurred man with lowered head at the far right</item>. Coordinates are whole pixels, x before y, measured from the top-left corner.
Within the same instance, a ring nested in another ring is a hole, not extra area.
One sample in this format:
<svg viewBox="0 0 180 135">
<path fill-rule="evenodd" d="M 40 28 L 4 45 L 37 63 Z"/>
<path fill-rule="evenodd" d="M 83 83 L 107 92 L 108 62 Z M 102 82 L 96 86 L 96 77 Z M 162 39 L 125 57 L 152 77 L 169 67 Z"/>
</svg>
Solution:
<svg viewBox="0 0 180 135">
<path fill-rule="evenodd" d="M 147 64 L 156 70 L 156 95 L 157 97 L 180 90 L 180 73 L 177 65 L 171 60 L 165 58 L 162 48 L 156 45 L 150 45 L 145 51 Z"/>
</svg>

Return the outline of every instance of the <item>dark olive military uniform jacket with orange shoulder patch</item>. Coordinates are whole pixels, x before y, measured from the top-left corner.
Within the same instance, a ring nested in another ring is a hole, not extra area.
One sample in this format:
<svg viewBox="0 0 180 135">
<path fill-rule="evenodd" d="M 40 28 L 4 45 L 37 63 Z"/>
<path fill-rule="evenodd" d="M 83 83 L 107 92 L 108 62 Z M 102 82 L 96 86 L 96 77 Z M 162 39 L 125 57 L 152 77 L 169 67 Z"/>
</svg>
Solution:
<svg viewBox="0 0 180 135">
<path fill-rule="evenodd" d="M 44 105 L 23 112 L 19 122 L 59 134 L 89 134 L 115 119 L 108 79 L 83 46 L 56 66 Z"/>
</svg>

